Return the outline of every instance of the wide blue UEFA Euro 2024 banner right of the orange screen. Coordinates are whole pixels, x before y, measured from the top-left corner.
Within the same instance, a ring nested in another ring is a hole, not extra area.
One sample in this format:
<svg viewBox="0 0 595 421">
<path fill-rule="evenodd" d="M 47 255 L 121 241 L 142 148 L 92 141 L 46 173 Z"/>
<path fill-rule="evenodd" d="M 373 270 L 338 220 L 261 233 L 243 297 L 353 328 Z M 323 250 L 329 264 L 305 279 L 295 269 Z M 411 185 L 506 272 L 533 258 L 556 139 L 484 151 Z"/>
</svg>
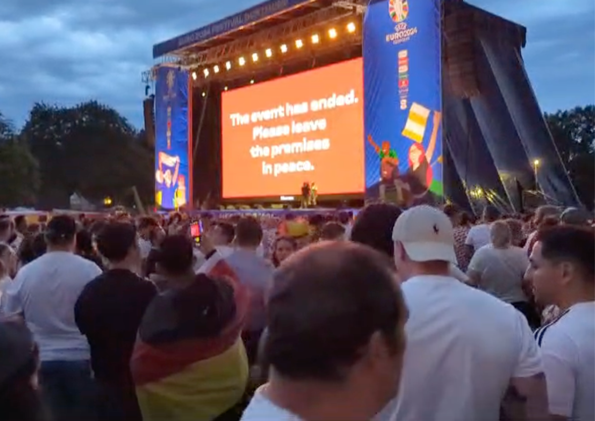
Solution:
<svg viewBox="0 0 595 421">
<path fill-rule="evenodd" d="M 440 0 L 372 0 L 364 18 L 368 197 L 443 196 Z"/>
</svg>

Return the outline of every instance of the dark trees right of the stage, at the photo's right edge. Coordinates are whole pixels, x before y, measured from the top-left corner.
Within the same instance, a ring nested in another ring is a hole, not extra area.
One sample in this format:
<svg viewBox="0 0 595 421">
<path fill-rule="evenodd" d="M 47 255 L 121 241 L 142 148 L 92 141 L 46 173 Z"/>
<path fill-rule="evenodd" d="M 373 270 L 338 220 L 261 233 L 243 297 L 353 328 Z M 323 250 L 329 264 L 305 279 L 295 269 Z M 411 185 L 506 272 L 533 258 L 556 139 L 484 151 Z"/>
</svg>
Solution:
<svg viewBox="0 0 595 421">
<path fill-rule="evenodd" d="M 562 163 L 584 205 L 595 200 L 595 106 L 544 115 Z"/>
</svg>

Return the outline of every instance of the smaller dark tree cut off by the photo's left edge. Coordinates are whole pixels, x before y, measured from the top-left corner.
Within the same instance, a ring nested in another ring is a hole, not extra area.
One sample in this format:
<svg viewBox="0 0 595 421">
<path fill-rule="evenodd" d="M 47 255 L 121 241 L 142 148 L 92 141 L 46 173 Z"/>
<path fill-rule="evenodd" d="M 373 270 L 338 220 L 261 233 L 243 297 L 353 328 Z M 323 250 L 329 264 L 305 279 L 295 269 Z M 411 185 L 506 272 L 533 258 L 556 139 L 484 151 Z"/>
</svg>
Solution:
<svg viewBox="0 0 595 421">
<path fill-rule="evenodd" d="M 37 161 L 26 143 L 21 142 L 10 121 L 0 113 L 0 206 L 35 204 L 39 188 Z"/>
</svg>

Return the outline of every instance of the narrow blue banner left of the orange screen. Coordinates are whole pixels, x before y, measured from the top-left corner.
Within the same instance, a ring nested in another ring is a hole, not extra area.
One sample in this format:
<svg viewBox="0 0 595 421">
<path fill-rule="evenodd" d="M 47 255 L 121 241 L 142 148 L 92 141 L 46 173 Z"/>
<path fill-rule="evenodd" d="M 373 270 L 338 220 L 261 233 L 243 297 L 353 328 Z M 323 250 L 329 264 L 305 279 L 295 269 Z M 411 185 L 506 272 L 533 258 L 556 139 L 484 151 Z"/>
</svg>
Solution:
<svg viewBox="0 0 595 421">
<path fill-rule="evenodd" d="M 155 86 L 155 204 L 189 203 L 187 71 L 160 67 Z"/>
</svg>

